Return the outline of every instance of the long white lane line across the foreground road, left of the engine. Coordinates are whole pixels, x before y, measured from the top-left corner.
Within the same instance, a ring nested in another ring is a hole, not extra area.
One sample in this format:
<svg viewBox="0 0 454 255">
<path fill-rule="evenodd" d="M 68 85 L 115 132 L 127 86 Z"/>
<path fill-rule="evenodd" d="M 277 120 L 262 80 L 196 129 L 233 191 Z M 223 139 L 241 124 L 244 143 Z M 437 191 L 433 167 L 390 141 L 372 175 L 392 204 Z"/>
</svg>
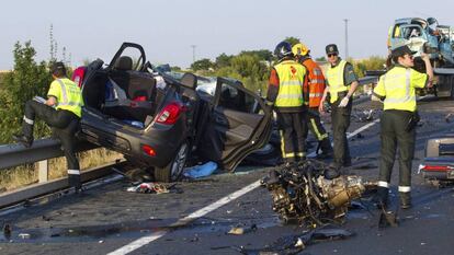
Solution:
<svg viewBox="0 0 454 255">
<path fill-rule="evenodd" d="M 237 192 L 235 192 L 230 195 L 227 195 L 227 196 L 220 198 L 219 200 L 213 202 L 212 205 L 208 205 L 208 206 L 206 206 L 206 207 L 204 207 L 200 210 L 196 210 L 196 211 L 192 212 L 191 215 L 178 220 L 175 223 L 171 224 L 170 227 L 185 225 L 185 224 L 190 223 L 191 221 L 193 221 L 195 219 L 198 219 L 198 218 L 201 218 L 201 217 L 218 209 L 222 206 L 227 205 L 228 202 L 241 197 L 242 195 L 256 189 L 259 186 L 260 186 L 260 179 L 253 182 L 252 184 L 249 184 L 248 186 L 246 186 L 246 187 L 243 187 L 243 188 L 241 188 L 241 189 L 239 189 L 239 190 L 237 190 Z M 162 230 L 162 231 L 155 232 L 150 235 L 140 237 L 140 239 L 138 239 L 138 240 L 136 240 L 136 241 L 134 241 L 129 244 L 126 244 L 125 246 L 123 246 L 121 248 L 117 248 L 117 250 L 109 253 L 107 255 L 128 254 L 128 253 L 130 253 L 130 252 L 133 252 L 133 251 L 135 251 L 135 250 L 137 250 L 141 246 L 145 246 L 145 245 L 151 243 L 152 241 L 163 236 L 168 232 L 169 232 L 169 230 Z"/>
</svg>

